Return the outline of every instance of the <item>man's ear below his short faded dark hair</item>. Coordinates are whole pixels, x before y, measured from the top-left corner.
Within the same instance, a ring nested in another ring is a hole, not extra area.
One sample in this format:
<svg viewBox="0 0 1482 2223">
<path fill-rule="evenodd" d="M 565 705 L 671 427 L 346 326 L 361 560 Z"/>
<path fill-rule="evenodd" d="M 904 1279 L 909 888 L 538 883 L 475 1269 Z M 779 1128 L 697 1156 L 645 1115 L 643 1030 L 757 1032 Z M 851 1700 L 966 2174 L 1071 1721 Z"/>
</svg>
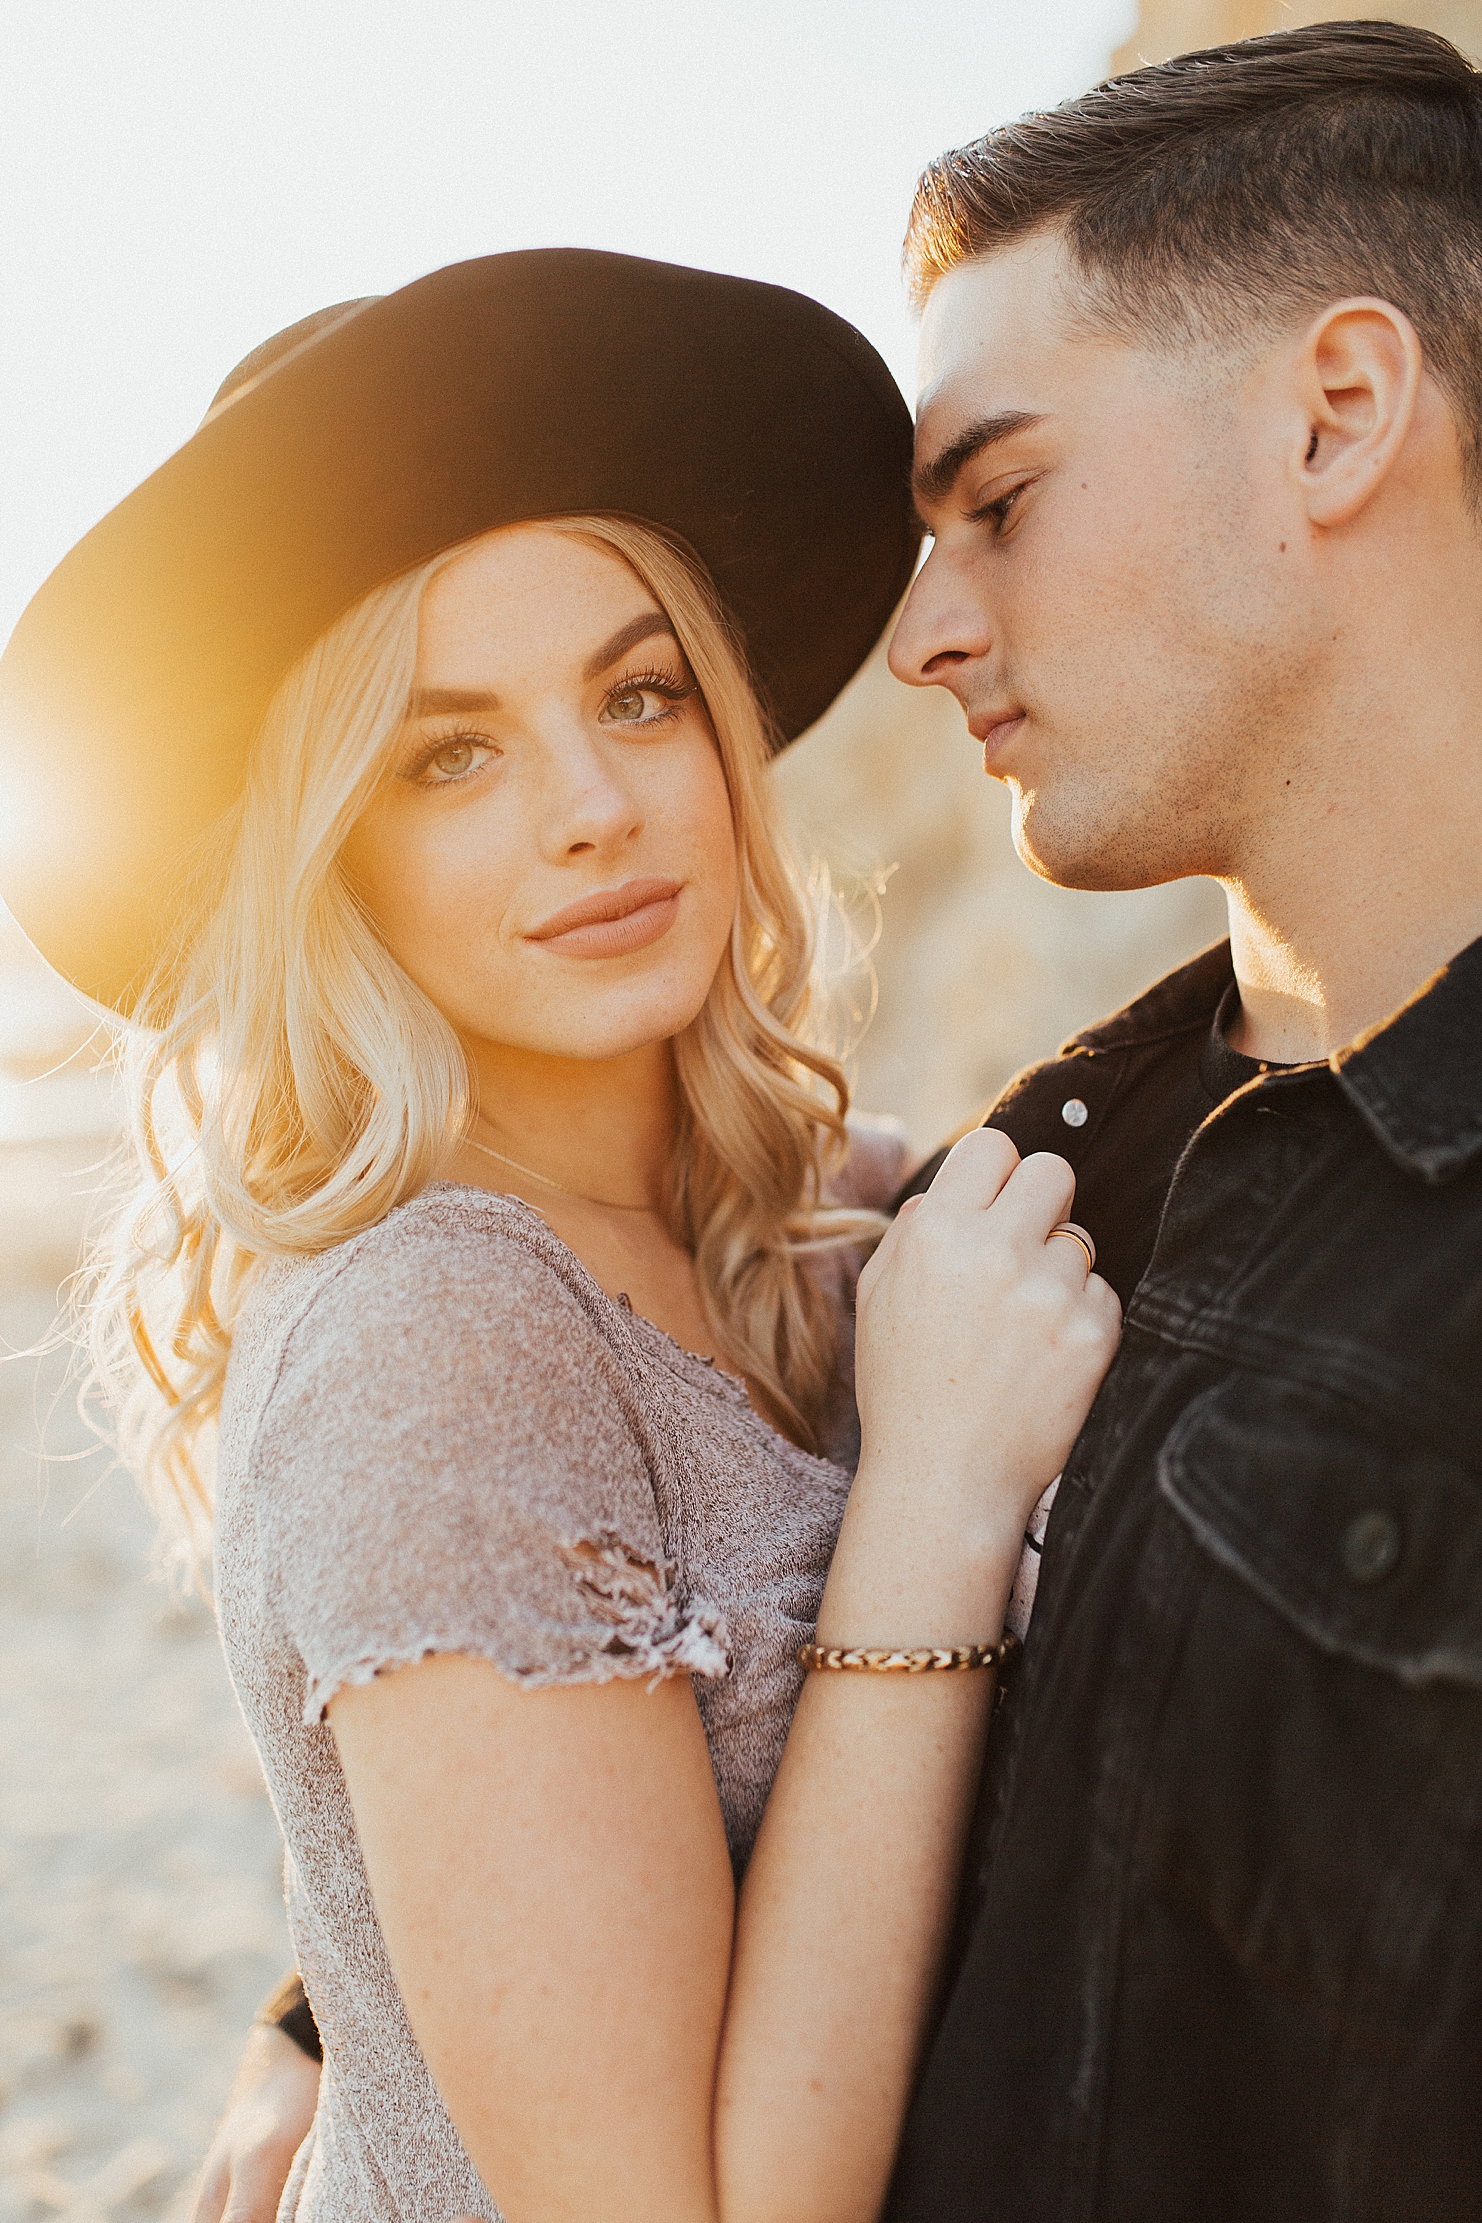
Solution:
<svg viewBox="0 0 1482 2223">
<path fill-rule="evenodd" d="M 1346 525 L 1404 447 L 1424 373 L 1420 336 L 1393 302 L 1338 300 L 1309 325 L 1293 369 L 1306 416 L 1298 460 L 1306 514 L 1318 527 Z"/>
</svg>

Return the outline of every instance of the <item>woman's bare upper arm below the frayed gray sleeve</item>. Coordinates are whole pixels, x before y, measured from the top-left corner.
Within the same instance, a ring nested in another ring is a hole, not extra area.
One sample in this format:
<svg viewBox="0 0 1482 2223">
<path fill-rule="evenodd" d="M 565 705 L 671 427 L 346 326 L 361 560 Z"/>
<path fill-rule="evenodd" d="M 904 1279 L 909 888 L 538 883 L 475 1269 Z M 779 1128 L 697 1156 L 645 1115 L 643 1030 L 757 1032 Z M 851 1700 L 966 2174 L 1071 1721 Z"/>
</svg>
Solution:
<svg viewBox="0 0 1482 2223">
<path fill-rule="evenodd" d="M 689 1678 L 429 1658 L 333 1732 L 395 1981 L 509 2223 L 702 2223 L 733 1883 Z"/>
</svg>

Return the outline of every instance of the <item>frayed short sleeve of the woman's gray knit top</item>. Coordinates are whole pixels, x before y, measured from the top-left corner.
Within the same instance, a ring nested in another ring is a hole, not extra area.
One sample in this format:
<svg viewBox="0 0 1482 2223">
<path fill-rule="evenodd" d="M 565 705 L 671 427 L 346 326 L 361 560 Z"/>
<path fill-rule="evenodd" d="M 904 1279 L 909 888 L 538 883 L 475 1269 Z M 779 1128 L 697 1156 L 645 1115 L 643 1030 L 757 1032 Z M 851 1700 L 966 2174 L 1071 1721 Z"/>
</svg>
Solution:
<svg viewBox="0 0 1482 2223">
<path fill-rule="evenodd" d="M 431 1652 L 518 1683 L 729 1669 L 680 1598 L 635 1383 L 527 1243 L 404 1207 L 316 1287 L 251 1472 L 271 1607 L 304 1721 Z"/>
</svg>

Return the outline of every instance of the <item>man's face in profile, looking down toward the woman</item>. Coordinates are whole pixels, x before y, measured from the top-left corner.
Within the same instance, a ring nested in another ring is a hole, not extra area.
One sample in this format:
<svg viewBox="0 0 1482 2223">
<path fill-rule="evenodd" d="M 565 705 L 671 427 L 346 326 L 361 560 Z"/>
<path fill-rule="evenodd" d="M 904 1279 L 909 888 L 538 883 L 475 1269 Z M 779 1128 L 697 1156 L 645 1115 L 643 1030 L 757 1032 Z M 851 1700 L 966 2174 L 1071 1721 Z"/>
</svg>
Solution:
<svg viewBox="0 0 1482 2223">
<path fill-rule="evenodd" d="M 891 669 L 958 696 L 1044 878 L 1240 876 L 1331 638 L 1298 562 L 1291 427 L 1269 362 L 1158 356 L 1075 307 L 1053 236 L 931 293 L 933 547 Z"/>
</svg>

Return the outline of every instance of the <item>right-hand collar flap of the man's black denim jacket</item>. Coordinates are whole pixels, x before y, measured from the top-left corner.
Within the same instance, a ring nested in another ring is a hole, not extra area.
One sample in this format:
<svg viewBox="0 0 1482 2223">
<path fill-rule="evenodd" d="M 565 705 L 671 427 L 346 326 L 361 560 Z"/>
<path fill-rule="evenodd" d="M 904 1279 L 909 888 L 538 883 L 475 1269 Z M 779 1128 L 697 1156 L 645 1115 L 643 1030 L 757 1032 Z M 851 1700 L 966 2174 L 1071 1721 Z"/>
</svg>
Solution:
<svg viewBox="0 0 1482 2223">
<path fill-rule="evenodd" d="M 1440 1185 L 1482 1156 L 1482 940 L 1329 1065 L 1395 1165 Z"/>
</svg>

